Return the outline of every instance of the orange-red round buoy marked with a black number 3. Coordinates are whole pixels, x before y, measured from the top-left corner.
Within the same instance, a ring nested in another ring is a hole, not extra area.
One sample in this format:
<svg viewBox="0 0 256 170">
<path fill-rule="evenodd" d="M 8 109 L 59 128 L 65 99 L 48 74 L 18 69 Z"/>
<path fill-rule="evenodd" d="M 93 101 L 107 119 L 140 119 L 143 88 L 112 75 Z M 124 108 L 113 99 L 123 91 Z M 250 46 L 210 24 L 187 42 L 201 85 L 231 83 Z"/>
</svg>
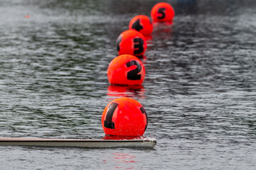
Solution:
<svg viewBox="0 0 256 170">
<path fill-rule="evenodd" d="M 117 38 L 119 55 L 134 55 L 141 57 L 146 51 L 146 39 L 137 30 L 125 30 Z"/>
</svg>

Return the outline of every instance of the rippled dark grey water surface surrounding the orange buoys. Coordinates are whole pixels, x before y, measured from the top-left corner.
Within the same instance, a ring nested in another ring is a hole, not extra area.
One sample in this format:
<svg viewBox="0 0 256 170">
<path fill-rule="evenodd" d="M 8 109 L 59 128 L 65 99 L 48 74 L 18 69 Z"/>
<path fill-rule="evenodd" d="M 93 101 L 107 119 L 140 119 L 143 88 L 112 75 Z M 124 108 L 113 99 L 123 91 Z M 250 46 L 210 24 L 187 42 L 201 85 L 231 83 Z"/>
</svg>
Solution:
<svg viewBox="0 0 256 170">
<path fill-rule="evenodd" d="M 255 169 L 256 2 L 168 1 L 174 25 L 154 27 L 143 87 L 110 86 L 117 36 L 156 2 L 0 1 L 0 137 L 101 138 L 103 109 L 127 96 L 158 141 L 0 147 L 0 169 Z"/>
</svg>

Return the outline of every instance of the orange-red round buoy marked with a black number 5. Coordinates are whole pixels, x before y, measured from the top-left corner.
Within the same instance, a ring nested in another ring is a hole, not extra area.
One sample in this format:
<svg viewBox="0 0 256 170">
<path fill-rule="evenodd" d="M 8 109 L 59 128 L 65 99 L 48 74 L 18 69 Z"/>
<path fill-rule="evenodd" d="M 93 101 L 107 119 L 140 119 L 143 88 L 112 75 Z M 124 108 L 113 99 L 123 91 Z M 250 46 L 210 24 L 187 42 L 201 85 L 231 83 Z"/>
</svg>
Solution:
<svg viewBox="0 0 256 170">
<path fill-rule="evenodd" d="M 174 8 L 166 2 L 160 2 L 151 9 L 153 22 L 172 22 L 174 15 Z"/>
</svg>

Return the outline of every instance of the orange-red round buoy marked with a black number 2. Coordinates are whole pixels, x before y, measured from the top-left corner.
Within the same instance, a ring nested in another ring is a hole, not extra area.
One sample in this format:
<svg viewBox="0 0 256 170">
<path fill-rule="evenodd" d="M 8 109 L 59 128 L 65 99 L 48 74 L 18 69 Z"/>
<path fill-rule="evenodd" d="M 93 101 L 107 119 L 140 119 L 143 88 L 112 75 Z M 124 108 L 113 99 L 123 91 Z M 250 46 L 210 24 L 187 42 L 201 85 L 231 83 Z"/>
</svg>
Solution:
<svg viewBox="0 0 256 170">
<path fill-rule="evenodd" d="M 119 55 L 110 62 L 107 78 L 110 84 L 141 85 L 145 78 L 145 67 L 137 57 Z"/>
</svg>

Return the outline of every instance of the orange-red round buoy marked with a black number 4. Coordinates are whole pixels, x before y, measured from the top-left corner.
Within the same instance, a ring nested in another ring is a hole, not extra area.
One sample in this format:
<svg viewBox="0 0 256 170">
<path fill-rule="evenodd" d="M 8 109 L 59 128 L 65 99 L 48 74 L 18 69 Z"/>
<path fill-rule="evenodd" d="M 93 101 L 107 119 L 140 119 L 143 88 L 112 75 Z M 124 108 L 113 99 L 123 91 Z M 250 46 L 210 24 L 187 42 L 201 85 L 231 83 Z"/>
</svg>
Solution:
<svg viewBox="0 0 256 170">
<path fill-rule="evenodd" d="M 151 35 L 153 31 L 153 25 L 149 17 L 140 15 L 132 18 L 132 20 L 129 23 L 129 29 L 137 30 L 139 31 L 139 33 L 142 33 L 142 35 L 144 35 L 145 37 L 148 37 Z"/>
</svg>

